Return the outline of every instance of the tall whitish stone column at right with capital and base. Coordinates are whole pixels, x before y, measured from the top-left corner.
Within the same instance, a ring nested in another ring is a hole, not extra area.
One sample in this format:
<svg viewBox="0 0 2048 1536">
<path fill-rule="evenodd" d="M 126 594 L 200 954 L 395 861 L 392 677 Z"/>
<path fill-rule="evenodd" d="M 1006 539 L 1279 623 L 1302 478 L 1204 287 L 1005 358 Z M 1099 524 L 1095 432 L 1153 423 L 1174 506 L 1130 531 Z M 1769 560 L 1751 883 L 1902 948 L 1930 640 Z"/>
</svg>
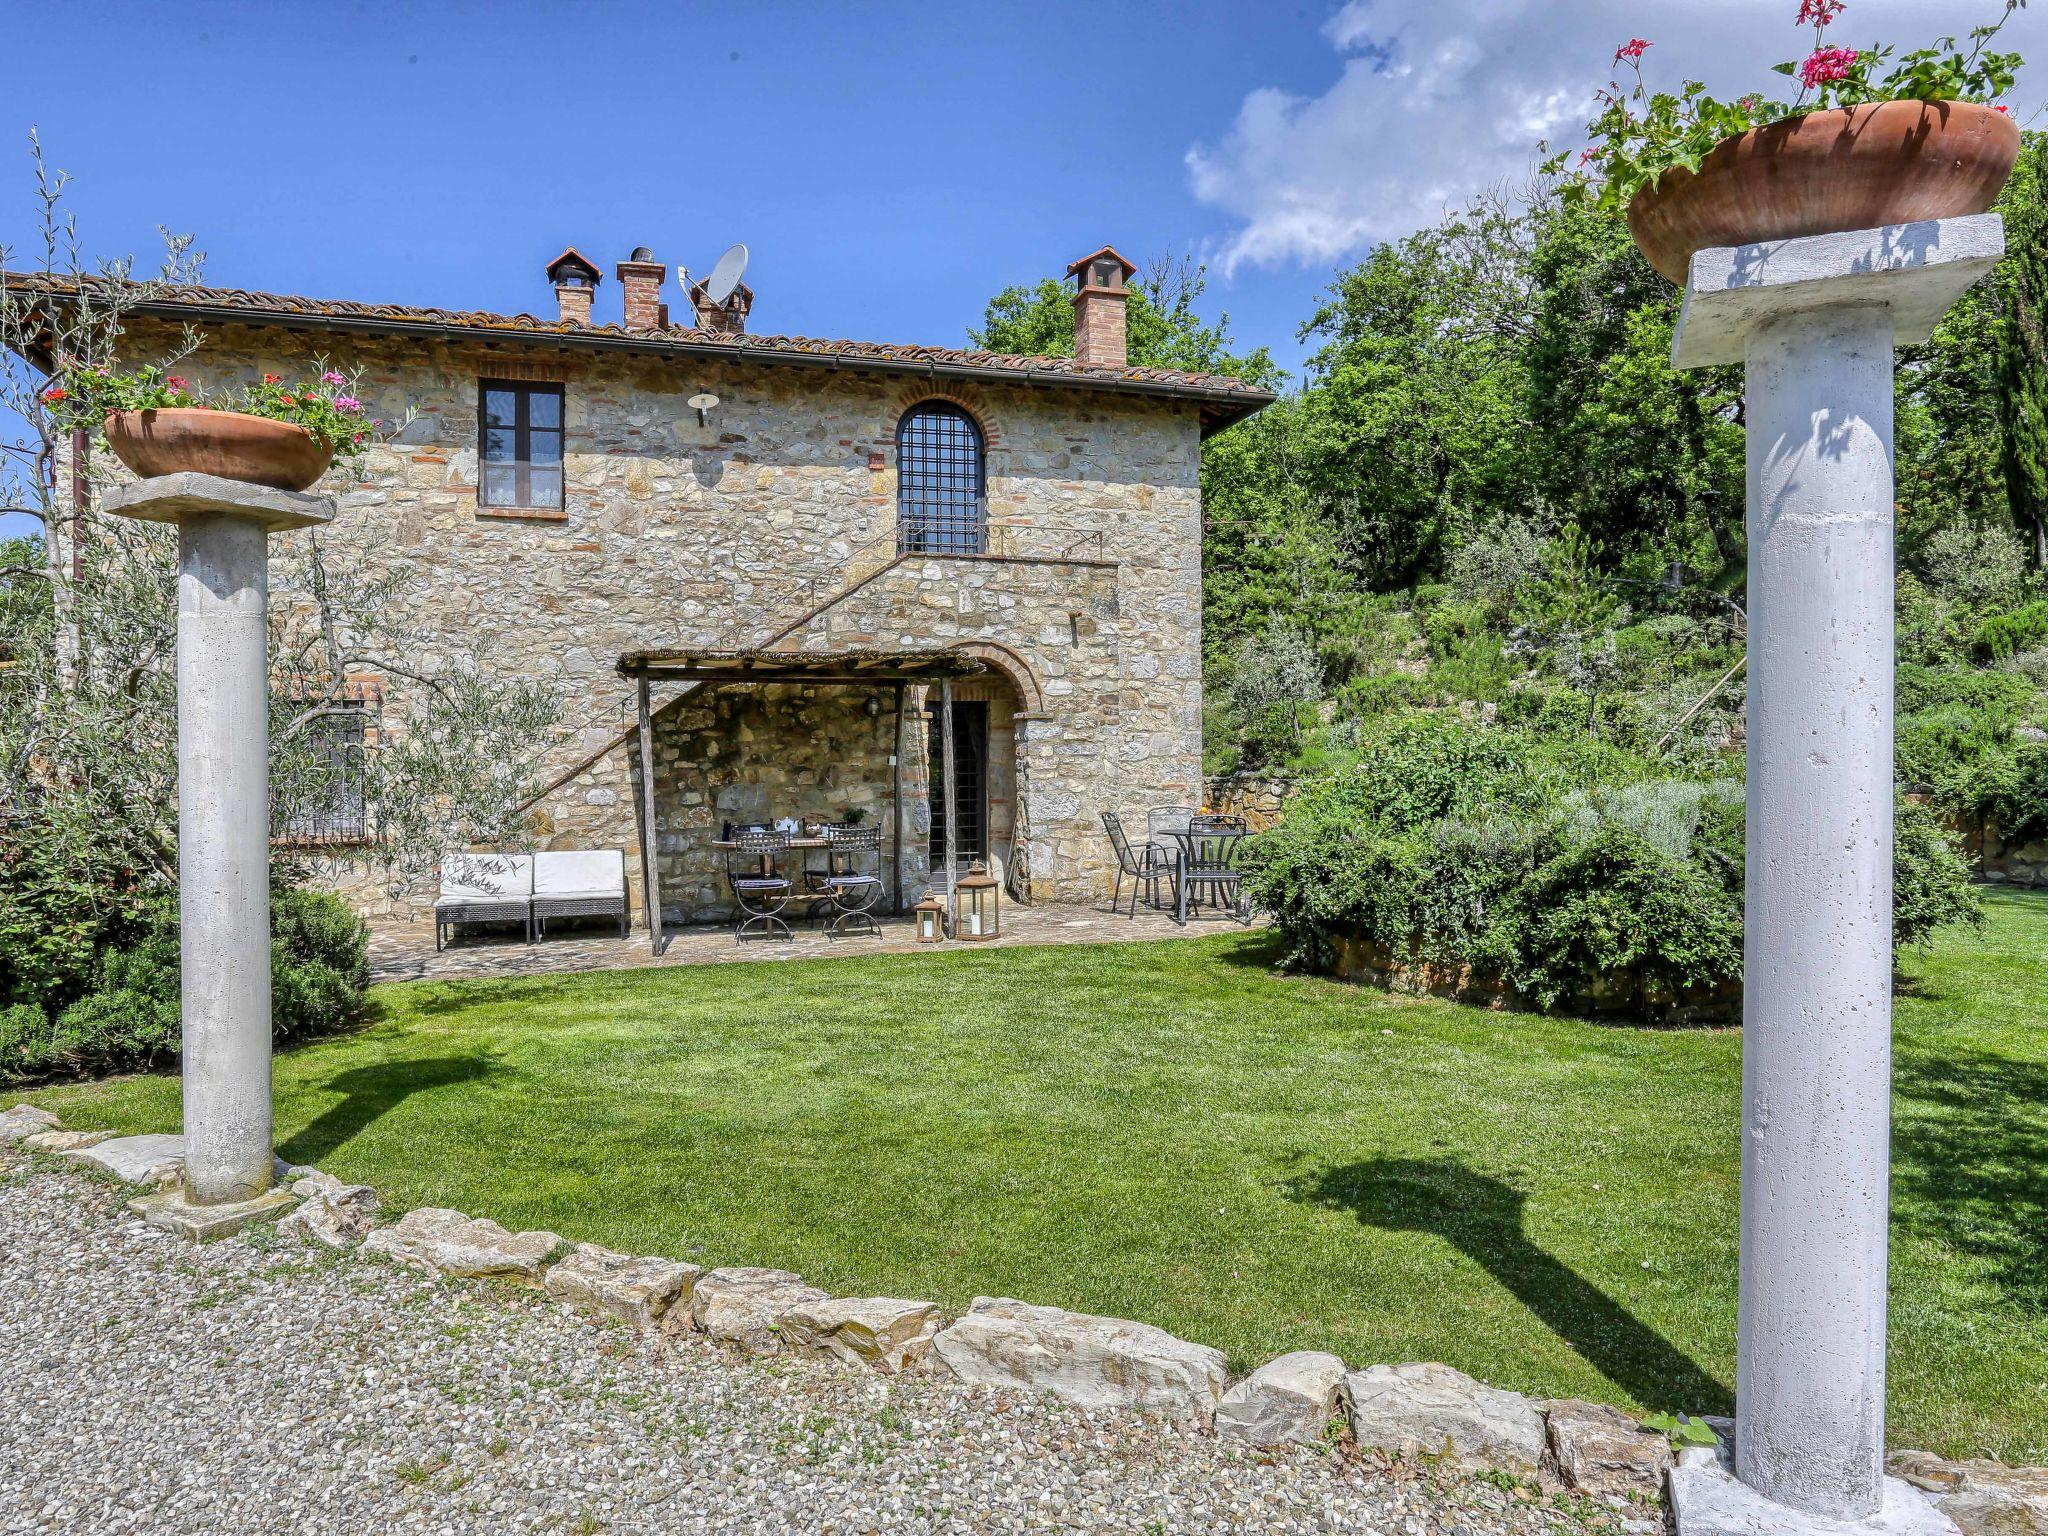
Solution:
<svg viewBox="0 0 2048 1536">
<path fill-rule="evenodd" d="M 1950 1530 L 1884 1477 L 1892 348 L 2003 248 L 1982 215 L 1692 260 L 1673 365 L 1747 369 L 1749 854 L 1741 1481 L 1681 1468 L 1681 1536 Z"/>
</svg>

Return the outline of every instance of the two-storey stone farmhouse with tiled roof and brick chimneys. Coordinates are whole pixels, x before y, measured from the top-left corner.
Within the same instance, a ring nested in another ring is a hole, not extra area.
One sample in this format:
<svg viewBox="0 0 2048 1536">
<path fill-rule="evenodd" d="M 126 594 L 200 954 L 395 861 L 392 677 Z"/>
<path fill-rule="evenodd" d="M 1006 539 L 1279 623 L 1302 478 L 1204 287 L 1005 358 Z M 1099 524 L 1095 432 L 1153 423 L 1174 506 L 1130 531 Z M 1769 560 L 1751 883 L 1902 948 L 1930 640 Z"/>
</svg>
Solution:
<svg viewBox="0 0 2048 1536">
<path fill-rule="evenodd" d="M 1272 399 L 1130 367 L 1133 270 L 1073 262 L 1073 358 L 756 336 L 752 291 L 711 303 L 680 270 L 674 324 L 645 248 L 612 268 L 616 319 L 565 250 L 545 319 L 180 287 L 129 340 L 199 328 L 180 373 L 207 389 L 362 371 L 367 410 L 406 426 L 322 483 L 326 555 L 412 565 L 408 633 L 555 694 L 535 840 L 623 850 L 635 913 L 649 801 L 672 924 L 729 911 L 713 844 L 770 817 L 879 825 L 891 903 L 942 866 L 948 815 L 1014 897 L 1081 901 L 1114 862 L 1102 811 L 1200 799 L 1200 442 Z M 950 807 L 928 784 L 940 672 Z M 403 731 L 399 680 L 352 682 L 338 756 Z M 348 836 L 340 799 L 309 838 Z M 344 891 L 391 911 L 369 879 Z"/>
</svg>

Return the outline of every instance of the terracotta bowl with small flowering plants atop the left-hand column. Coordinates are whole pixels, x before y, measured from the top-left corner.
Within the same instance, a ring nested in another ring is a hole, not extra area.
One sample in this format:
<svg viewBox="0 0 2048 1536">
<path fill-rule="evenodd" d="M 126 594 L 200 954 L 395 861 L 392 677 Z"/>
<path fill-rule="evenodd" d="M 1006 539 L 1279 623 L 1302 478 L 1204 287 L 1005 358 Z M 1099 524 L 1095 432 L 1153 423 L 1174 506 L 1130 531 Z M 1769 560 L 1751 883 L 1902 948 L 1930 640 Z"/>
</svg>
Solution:
<svg viewBox="0 0 2048 1536">
<path fill-rule="evenodd" d="M 66 426 L 98 428 L 145 479 L 199 471 L 281 492 L 303 492 L 336 459 L 365 453 L 377 426 L 348 375 L 326 367 L 315 383 L 266 373 L 238 393 L 213 395 L 154 365 L 78 369 L 57 377 L 43 403 Z"/>
</svg>

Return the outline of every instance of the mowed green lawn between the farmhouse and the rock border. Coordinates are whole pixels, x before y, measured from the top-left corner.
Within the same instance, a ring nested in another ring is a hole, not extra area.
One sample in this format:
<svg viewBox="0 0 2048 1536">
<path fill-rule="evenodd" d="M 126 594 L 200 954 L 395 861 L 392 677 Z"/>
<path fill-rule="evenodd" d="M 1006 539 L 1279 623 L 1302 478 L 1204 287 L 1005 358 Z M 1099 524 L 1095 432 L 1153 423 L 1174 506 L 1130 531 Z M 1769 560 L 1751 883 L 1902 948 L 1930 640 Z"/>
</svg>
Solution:
<svg viewBox="0 0 2048 1536">
<path fill-rule="evenodd" d="M 2048 1460 L 2048 899 L 1898 1004 L 1892 1442 Z M 383 987 L 281 1149 L 842 1294 L 1010 1294 L 1235 1368 L 1446 1360 L 1724 1411 L 1741 1036 L 1276 977 L 1257 934 Z M 176 1079 L 33 1096 L 172 1130 Z"/>
</svg>

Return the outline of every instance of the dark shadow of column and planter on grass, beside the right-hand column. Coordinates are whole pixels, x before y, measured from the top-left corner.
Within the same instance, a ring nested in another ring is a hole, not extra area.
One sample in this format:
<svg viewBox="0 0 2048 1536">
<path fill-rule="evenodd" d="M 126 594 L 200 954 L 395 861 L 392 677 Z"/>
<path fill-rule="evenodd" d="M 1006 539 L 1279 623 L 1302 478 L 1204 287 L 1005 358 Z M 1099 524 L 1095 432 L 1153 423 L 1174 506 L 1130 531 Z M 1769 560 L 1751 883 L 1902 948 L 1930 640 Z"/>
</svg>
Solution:
<svg viewBox="0 0 2048 1536">
<path fill-rule="evenodd" d="M 1380 1157 L 1296 1180 L 1296 1200 L 1368 1227 L 1436 1233 L 1481 1264 L 1589 1366 L 1651 1411 L 1729 1413 L 1735 1393 L 1524 1233 L 1526 1196 L 1458 1161 Z"/>
</svg>

